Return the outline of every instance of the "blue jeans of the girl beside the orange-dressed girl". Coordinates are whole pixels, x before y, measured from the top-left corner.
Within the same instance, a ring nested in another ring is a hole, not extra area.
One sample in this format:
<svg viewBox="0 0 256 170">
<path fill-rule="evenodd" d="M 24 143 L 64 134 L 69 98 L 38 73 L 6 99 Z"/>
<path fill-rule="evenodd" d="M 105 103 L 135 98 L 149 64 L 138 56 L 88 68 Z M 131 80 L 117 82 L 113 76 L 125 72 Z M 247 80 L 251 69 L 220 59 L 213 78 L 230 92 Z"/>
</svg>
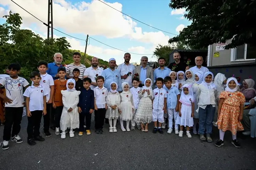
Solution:
<svg viewBox="0 0 256 170">
<path fill-rule="evenodd" d="M 211 134 L 213 129 L 213 117 L 215 113 L 215 107 L 213 105 L 207 105 L 205 109 L 199 108 L 199 134 L 205 133 Z"/>
</svg>

